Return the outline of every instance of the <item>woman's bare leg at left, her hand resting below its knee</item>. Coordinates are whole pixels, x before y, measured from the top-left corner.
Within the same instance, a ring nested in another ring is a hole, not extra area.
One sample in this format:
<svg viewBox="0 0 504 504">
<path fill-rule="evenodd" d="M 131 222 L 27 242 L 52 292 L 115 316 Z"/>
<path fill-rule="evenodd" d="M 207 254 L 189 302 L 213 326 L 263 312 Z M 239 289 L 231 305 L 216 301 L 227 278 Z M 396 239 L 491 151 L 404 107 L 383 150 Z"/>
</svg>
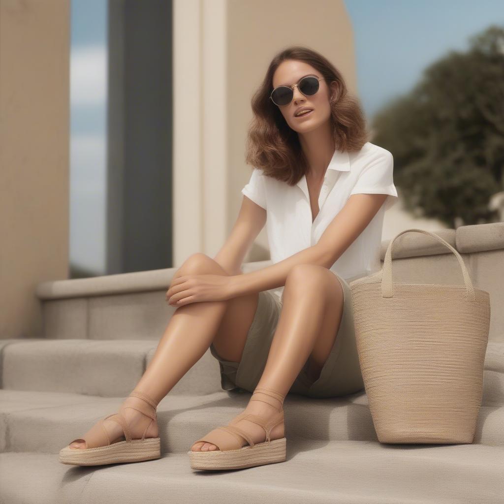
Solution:
<svg viewBox="0 0 504 504">
<path fill-rule="evenodd" d="M 226 275 L 226 272 L 211 258 L 204 254 L 194 254 L 179 268 L 177 276 L 190 274 Z M 244 298 L 245 296 L 243 296 Z M 257 297 L 257 296 L 256 296 Z M 240 335 L 246 338 L 248 326 L 253 319 L 257 300 L 255 296 L 246 299 L 228 299 L 225 301 L 199 302 L 179 306 L 173 313 L 168 326 L 156 348 L 156 352 L 143 376 L 134 390 L 139 390 L 159 402 L 168 394 L 180 378 L 205 354 L 215 338 L 216 332 L 228 308 L 232 307 L 235 300 L 243 311 L 242 327 L 234 327 L 233 336 L 239 341 Z M 247 304 L 248 302 L 248 304 Z M 143 400 L 128 397 L 121 406 L 138 406 Z M 144 430 L 151 422 L 151 418 L 137 410 L 126 408 L 124 410 L 133 438 L 141 437 Z M 121 426 L 113 420 L 105 420 L 110 443 L 124 438 Z M 158 437 L 159 431 L 156 422 L 148 428 L 146 437 Z M 74 442 L 71 448 L 84 449 L 84 442 Z"/>
</svg>

